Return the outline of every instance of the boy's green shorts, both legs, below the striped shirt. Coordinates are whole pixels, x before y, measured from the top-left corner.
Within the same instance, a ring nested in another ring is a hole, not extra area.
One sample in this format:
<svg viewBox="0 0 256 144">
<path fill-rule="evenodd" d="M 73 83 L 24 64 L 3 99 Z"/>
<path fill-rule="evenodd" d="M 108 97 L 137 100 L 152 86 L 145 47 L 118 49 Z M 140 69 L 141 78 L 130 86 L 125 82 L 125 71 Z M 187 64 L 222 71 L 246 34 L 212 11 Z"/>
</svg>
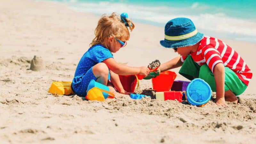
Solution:
<svg viewBox="0 0 256 144">
<path fill-rule="evenodd" d="M 189 80 L 194 78 L 201 78 L 208 83 L 213 92 L 216 92 L 215 79 L 212 71 L 204 64 L 199 66 L 190 55 L 186 58 L 179 71 L 180 75 Z M 234 71 L 225 67 L 225 92 L 230 90 L 236 96 L 242 94 L 247 86 L 238 78 Z"/>
</svg>

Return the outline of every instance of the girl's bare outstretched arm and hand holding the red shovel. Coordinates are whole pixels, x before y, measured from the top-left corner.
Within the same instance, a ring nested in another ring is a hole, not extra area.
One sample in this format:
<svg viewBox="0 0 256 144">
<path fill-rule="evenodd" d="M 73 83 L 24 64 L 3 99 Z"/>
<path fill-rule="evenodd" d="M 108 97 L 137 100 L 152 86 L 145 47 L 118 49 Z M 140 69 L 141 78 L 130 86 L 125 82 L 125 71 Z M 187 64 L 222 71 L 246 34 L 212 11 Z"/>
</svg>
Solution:
<svg viewBox="0 0 256 144">
<path fill-rule="evenodd" d="M 129 67 L 125 65 L 120 65 L 113 58 L 108 58 L 103 60 L 108 68 L 118 75 L 143 75 L 148 76 L 149 69 L 147 67 Z"/>
</svg>

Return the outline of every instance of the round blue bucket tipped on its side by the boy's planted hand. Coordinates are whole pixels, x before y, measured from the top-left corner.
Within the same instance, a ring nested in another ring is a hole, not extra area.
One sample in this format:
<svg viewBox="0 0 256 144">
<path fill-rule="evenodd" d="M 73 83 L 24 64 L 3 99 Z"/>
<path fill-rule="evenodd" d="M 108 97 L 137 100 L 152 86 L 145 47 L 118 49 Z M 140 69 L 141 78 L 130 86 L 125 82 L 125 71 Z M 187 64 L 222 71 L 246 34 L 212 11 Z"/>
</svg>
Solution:
<svg viewBox="0 0 256 144">
<path fill-rule="evenodd" d="M 188 84 L 186 99 L 189 104 L 202 107 L 207 104 L 211 97 L 211 87 L 204 80 L 196 78 Z"/>
</svg>

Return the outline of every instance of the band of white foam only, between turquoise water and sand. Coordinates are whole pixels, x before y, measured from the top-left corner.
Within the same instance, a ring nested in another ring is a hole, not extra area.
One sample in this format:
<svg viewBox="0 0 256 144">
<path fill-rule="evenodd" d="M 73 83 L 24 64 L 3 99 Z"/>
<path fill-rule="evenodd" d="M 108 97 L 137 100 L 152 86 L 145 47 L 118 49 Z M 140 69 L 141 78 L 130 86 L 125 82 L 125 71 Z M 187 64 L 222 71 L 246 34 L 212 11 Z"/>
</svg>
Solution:
<svg viewBox="0 0 256 144">
<path fill-rule="evenodd" d="M 224 13 L 211 14 L 210 11 L 208 13 L 200 13 L 200 11 L 197 10 L 198 8 L 201 8 L 198 3 L 192 4 L 189 8 L 177 8 L 100 2 L 71 4 L 71 8 L 95 14 L 127 12 L 132 19 L 147 20 L 163 25 L 173 18 L 187 17 L 191 19 L 196 25 L 196 28 L 200 30 L 218 31 L 234 35 L 256 36 L 256 20 L 232 18 L 226 16 Z M 203 9 L 205 9 L 205 7 Z M 189 11 L 199 14 L 186 14 L 189 13 Z"/>
</svg>

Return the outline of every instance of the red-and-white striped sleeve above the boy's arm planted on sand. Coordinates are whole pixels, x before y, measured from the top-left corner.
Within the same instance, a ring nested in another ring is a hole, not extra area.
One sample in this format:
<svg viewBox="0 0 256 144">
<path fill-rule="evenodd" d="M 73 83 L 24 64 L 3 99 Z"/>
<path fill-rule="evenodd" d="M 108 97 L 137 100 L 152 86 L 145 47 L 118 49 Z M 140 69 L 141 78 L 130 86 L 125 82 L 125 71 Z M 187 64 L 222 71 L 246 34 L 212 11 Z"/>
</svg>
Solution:
<svg viewBox="0 0 256 144">
<path fill-rule="evenodd" d="M 204 59 L 208 67 L 211 69 L 212 73 L 214 73 L 214 67 L 218 63 L 223 63 L 221 59 L 220 52 L 217 51 L 211 45 L 206 45 L 202 49 L 202 54 L 204 55 Z"/>
</svg>

